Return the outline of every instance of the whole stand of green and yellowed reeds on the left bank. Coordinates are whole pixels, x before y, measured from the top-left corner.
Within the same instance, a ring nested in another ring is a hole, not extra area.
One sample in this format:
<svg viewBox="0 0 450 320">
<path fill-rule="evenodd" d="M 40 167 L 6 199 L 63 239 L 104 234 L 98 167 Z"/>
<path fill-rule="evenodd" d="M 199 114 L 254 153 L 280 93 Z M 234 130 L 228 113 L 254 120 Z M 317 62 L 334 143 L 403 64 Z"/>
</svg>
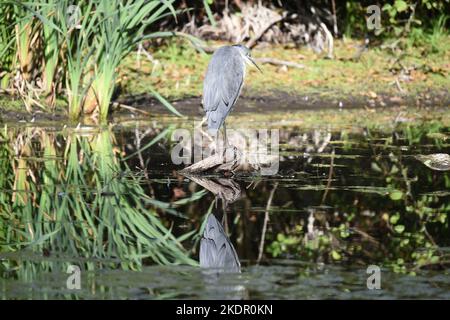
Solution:
<svg viewBox="0 0 450 320">
<path fill-rule="evenodd" d="M 17 56 L 20 81 L 15 89 L 27 109 L 54 105 L 67 94 L 69 115 L 98 113 L 106 119 L 118 68 L 136 44 L 167 36 L 146 33 L 158 20 L 175 16 L 174 0 L 11 1 L 0 4 L 0 61 L 9 76 Z M 14 38 L 8 37 L 14 26 Z M 171 34 L 170 34 L 171 35 Z M 5 55 L 7 53 L 7 55 Z M 2 68 L 3 69 L 3 68 Z M 5 73 L 5 71 L 2 71 Z M 12 83 L 2 75 L 2 85 Z M 3 80 L 6 79 L 6 80 Z M 170 106 L 171 107 L 171 106 Z M 173 109 L 172 109 L 173 110 Z"/>
</svg>

